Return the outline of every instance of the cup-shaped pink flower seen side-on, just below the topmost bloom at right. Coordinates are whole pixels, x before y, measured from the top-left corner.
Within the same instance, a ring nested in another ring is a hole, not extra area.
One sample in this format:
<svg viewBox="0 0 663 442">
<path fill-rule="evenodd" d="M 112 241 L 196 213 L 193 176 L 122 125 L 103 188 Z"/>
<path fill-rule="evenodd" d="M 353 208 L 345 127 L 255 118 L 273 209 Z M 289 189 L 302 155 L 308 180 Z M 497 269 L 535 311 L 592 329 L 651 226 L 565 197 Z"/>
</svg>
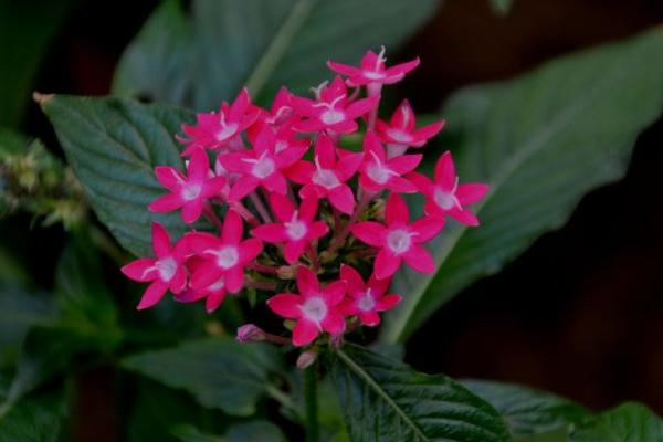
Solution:
<svg viewBox="0 0 663 442">
<path fill-rule="evenodd" d="M 397 146 L 421 147 L 444 127 L 444 122 L 433 123 L 417 129 L 414 112 L 407 99 L 398 106 L 389 124 L 378 119 L 376 129 L 382 141 Z"/>
</svg>

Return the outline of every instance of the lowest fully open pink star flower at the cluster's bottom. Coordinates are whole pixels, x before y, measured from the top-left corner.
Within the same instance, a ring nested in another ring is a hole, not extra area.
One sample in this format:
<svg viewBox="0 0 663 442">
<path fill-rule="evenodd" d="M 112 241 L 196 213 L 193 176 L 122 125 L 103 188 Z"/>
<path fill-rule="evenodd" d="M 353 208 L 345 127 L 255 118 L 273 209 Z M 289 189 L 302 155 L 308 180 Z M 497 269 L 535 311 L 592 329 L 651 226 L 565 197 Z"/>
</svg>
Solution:
<svg viewBox="0 0 663 442">
<path fill-rule="evenodd" d="M 336 281 L 320 290 L 313 271 L 302 265 L 297 270 L 297 287 L 299 295 L 280 293 L 267 299 L 267 306 L 278 316 L 296 319 L 293 344 L 311 344 L 322 332 L 343 334 L 346 324 L 338 305 L 345 297 L 346 283 Z"/>
</svg>

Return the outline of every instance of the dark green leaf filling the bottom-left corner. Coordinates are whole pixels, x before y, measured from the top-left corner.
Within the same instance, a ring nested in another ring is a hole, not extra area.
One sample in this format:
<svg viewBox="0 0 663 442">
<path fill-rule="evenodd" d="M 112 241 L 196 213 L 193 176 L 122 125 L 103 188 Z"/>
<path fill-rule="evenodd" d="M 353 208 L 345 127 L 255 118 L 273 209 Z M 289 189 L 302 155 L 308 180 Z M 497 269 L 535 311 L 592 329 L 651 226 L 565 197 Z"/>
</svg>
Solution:
<svg viewBox="0 0 663 442">
<path fill-rule="evenodd" d="M 24 399 L 11 409 L 0 406 L 0 442 L 55 442 L 63 411 L 60 396 Z"/>
</svg>

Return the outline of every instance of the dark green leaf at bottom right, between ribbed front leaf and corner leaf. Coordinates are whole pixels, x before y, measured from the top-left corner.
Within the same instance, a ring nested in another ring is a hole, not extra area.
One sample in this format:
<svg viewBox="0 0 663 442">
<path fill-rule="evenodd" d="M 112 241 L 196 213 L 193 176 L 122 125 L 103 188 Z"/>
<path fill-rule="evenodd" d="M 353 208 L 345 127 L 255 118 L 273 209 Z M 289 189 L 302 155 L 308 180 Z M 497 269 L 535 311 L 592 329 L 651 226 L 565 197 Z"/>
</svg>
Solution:
<svg viewBox="0 0 663 442">
<path fill-rule="evenodd" d="M 568 399 L 520 386 L 478 380 L 461 383 L 499 412 L 515 439 L 554 433 L 559 428 L 566 435 L 590 415 Z"/>
</svg>

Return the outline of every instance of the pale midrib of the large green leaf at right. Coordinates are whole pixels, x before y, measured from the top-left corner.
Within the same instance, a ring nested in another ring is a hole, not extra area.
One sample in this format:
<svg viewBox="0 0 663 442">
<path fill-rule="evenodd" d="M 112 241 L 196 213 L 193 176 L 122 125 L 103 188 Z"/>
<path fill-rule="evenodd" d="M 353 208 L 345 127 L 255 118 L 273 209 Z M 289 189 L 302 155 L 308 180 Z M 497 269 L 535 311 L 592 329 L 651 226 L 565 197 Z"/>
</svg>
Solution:
<svg viewBox="0 0 663 442">
<path fill-rule="evenodd" d="M 496 175 L 495 180 L 490 183 L 491 191 L 488 192 L 488 194 L 484 198 L 483 201 L 474 206 L 476 214 L 478 214 L 481 210 L 487 204 L 487 202 L 492 200 L 495 193 L 497 193 L 497 189 L 499 189 L 502 185 L 504 185 L 504 182 L 516 170 L 518 170 L 520 165 L 523 165 L 533 155 L 537 154 L 540 150 L 540 148 L 543 148 L 546 145 L 546 141 L 557 134 L 557 130 L 564 128 L 568 122 L 572 120 L 572 117 L 575 115 L 577 115 L 582 108 L 585 108 L 590 102 L 593 101 L 594 95 L 597 95 L 597 91 L 602 88 L 603 84 L 610 84 L 617 81 L 619 77 L 623 76 L 625 70 L 623 70 L 622 66 L 624 66 L 625 64 L 619 63 L 620 61 L 621 60 L 618 60 L 617 69 L 610 71 L 612 75 L 603 76 L 603 82 L 596 82 L 593 84 L 593 87 L 587 93 L 583 101 L 579 101 L 575 105 L 565 108 L 560 114 L 558 114 L 558 116 L 548 126 L 548 128 L 543 131 L 543 134 L 533 136 L 529 139 L 529 141 L 524 145 L 525 147 L 522 150 L 517 150 L 519 154 L 516 154 L 511 160 L 504 164 L 499 173 Z M 420 288 L 417 288 L 415 291 L 409 294 L 409 296 L 406 298 L 409 302 L 403 303 L 402 306 L 403 309 L 407 309 L 407 313 L 396 317 L 397 326 L 390 327 L 388 329 L 383 340 L 393 344 L 404 339 L 410 317 L 417 309 L 419 302 L 421 301 L 423 295 L 428 292 L 431 282 L 435 278 L 440 270 L 444 266 L 448 257 L 451 255 L 451 252 L 453 252 L 456 243 L 463 238 L 465 231 L 467 231 L 467 227 L 460 225 L 452 233 L 450 233 L 450 235 L 448 236 L 449 241 L 442 244 L 440 252 L 435 255 L 435 257 L 440 262 L 440 265 L 435 270 L 435 273 L 433 273 L 431 276 L 425 276 L 421 285 L 419 286 Z"/>
</svg>

